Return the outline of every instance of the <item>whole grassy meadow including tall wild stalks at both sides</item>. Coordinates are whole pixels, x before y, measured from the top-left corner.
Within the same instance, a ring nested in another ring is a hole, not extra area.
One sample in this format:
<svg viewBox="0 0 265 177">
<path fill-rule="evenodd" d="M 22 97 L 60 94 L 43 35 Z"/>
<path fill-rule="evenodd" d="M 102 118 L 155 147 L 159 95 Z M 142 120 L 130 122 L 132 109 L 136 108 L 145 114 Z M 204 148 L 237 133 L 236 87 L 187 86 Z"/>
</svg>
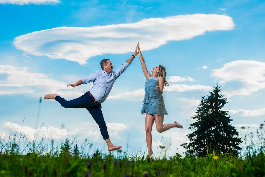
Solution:
<svg viewBox="0 0 265 177">
<path fill-rule="evenodd" d="M 59 149 L 53 142 L 29 142 L 13 132 L 7 140 L 0 139 L 0 176 L 265 176 L 264 132 L 261 124 L 257 137 L 252 132 L 243 135 L 239 157 L 209 152 L 206 157 L 176 153 L 152 158 L 122 151 L 88 155 L 89 142 L 78 148 L 65 139 Z"/>
</svg>

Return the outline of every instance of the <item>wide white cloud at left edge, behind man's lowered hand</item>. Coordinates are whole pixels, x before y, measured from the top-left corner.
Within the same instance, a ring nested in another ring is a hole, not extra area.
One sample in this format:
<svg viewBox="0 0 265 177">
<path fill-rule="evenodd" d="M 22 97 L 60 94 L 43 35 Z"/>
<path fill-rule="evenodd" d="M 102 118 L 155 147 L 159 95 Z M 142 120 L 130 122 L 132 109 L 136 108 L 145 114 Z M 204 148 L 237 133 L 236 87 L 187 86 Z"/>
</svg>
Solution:
<svg viewBox="0 0 265 177">
<path fill-rule="evenodd" d="M 31 73 L 26 67 L 0 65 L 1 75 L 0 95 L 44 96 L 45 94 L 57 93 L 73 98 L 85 93 L 85 90 L 67 87 L 68 83 L 52 79 L 47 74 Z"/>
</svg>

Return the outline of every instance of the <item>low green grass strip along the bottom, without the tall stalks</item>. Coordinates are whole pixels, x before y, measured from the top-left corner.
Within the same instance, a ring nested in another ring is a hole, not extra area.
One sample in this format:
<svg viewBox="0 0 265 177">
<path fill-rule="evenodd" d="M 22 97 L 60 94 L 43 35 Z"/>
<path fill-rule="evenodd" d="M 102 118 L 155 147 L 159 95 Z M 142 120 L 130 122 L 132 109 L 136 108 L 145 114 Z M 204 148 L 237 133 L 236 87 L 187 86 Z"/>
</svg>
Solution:
<svg viewBox="0 0 265 177">
<path fill-rule="evenodd" d="M 169 158 L 114 157 L 111 153 L 87 158 L 60 155 L 0 155 L 0 176 L 264 176 L 264 153 L 246 158 L 176 154 Z"/>
</svg>

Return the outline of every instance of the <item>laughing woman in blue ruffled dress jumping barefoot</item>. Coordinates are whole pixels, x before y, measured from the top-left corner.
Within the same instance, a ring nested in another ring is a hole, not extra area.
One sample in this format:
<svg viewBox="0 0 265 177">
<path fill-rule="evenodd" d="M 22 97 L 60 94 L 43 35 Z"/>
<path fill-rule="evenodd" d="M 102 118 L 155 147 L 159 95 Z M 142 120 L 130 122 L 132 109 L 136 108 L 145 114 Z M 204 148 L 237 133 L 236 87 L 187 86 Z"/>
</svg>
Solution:
<svg viewBox="0 0 265 177">
<path fill-rule="evenodd" d="M 139 42 L 137 45 L 139 51 L 139 59 L 143 68 L 144 76 L 146 77 L 146 82 L 144 85 L 144 101 L 141 114 L 145 114 L 145 136 L 148 149 L 148 156 L 150 157 L 153 154 L 152 151 L 152 127 L 154 121 L 156 121 L 157 132 L 162 133 L 173 127 L 183 128 L 177 122 L 173 124 L 164 124 L 164 115 L 168 115 L 164 99 L 163 99 L 163 89 L 168 87 L 167 83 L 167 71 L 166 68 L 162 65 L 158 65 L 153 68 L 152 75 L 147 71 L 146 65 L 144 63 L 144 58 L 142 56 Z"/>
</svg>

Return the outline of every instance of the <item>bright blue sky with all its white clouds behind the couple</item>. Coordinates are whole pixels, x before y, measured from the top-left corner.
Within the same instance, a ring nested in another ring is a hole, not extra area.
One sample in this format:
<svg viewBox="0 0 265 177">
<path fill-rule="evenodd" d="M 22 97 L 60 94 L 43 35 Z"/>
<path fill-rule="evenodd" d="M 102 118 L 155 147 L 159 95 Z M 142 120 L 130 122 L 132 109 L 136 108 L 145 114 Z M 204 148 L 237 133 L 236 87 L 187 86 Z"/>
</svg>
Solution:
<svg viewBox="0 0 265 177">
<path fill-rule="evenodd" d="M 264 121 L 265 3 L 263 1 L 0 1 L 0 134 L 21 128 L 33 137 L 39 98 L 58 93 L 74 99 L 92 84 L 67 88 L 109 58 L 114 70 L 133 54 L 137 41 L 149 71 L 167 68 L 163 93 L 168 116 L 183 130 L 158 133 L 153 140 L 184 152 L 190 118 L 200 97 L 221 86 L 232 124 L 255 132 Z M 111 140 L 146 150 L 140 114 L 145 77 L 138 56 L 116 80 L 102 104 Z M 97 124 L 85 109 L 65 109 L 42 100 L 38 127 L 60 142 L 68 135 L 86 138 L 107 151 Z M 63 126 L 62 126 L 63 125 Z M 30 138 L 29 138 L 30 139 Z M 171 146 L 170 146 L 171 140 Z M 157 152 L 157 147 L 153 145 Z M 159 155 L 159 152 L 156 153 Z"/>
</svg>

